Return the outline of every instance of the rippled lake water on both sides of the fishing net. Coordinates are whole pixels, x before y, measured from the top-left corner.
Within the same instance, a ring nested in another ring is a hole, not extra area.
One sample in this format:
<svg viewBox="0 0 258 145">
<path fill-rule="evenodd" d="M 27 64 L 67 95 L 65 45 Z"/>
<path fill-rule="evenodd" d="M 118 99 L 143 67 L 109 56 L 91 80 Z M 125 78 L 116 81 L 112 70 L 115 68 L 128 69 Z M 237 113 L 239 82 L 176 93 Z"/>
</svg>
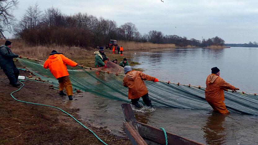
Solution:
<svg viewBox="0 0 258 145">
<path fill-rule="evenodd" d="M 159 80 L 205 86 L 212 67 L 220 68 L 221 77 L 241 91 L 257 93 L 258 48 L 172 48 L 132 53 L 134 68 Z M 121 104 L 90 93 L 75 97 L 83 121 L 116 134 L 124 134 Z M 136 119 L 154 127 L 163 127 L 180 136 L 205 144 L 258 144 L 258 116 L 231 113 L 214 114 L 211 110 L 176 108 L 133 108 Z M 87 125 L 86 125 L 87 126 Z"/>
</svg>

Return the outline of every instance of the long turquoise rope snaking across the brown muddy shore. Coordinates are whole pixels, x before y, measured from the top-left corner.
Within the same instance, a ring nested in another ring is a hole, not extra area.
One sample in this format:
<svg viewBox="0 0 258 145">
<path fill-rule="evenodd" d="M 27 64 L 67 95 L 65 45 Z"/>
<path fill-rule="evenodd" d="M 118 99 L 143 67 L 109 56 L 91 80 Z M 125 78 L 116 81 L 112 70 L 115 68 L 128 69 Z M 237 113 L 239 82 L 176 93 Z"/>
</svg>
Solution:
<svg viewBox="0 0 258 145">
<path fill-rule="evenodd" d="M 22 83 L 22 82 L 20 81 L 20 83 Z M 50 106 L 50 105 L 45 105 L 45 104 L 39 104 L 39 103 L 31 103 L 31 102 L 26 102 L 26 101 L 21 101 L 21 100 L 16 99 L 12 94 L 15 93 L 15 92 L 18 92 L 22 87 L 24 87 L 24 83 L 22 83 L 22 86 L 21 86 L 18 90 L 13 91 L 13 92 L 11 93 L 11 96 L 12 96 L 13 99 L 15 99 L 16 101 L 19 101 L 19 102 L 23 102 L 23 103 L 28 103 L 28 104 L 34 104 L 34 105 L 41 105 L 41 106 L 47 106 L 47 107 L 51 107 L 51 108 L 56 108 L 56 109 L 58 109 L 58 110 L 64 112 L 65 114 L 69 115 L 70 117 L 72 117 L 73 120 L 75 120 L 75 121 L 78 122 L 80 125 L 82 125 L 82 127 L 84 127 L 84 128 L 86 128 L 87 130 L 89 130 L 101 143 L 107 145 L 107 143 L 105 143 L 104 141 L 102 141 L 92 130 L 88 129 L 88 128 L 87 128 L 86 126 L 84 126 L 80 121 L 78 121 L 76 118 L 74 118 L 72 115 L 70 115 L 69 113 L 65 112 L 64 110 L 62 110 L 62 109 L 60 109 L 60 108 L 57 108 L 57 107 L 55 107 L 55 106 Z"/>
</svg>

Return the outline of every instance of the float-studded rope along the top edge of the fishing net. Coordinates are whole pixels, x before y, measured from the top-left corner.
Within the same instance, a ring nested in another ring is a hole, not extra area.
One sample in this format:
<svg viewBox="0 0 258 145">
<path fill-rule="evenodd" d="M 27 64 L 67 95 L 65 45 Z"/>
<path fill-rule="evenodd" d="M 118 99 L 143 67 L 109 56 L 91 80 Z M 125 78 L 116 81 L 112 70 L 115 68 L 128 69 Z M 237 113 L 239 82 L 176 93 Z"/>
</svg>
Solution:
<svg viewBox="0 0 258 145">
<path fill-rule="evenodd" d="M 29 57 L 23 57 L 23 56 L 19 56 L 20 58 L 26 58 L 26 59 L 32 59 L 32 58 L 29 58 Z M 39 60 L 39 59 L 32 59 L 32 60 L 35 60 L 35 61 L 42 61 L 42 62 L 45 62 L 44 60 Z M 114 74 L 116 76 L 125 76 L 125 75 L 122 75 L 122 74 L 118 74 L 118 73 L 111 73 L 109 71 L 103 71 L 103 70 L 99 70 L 99 69 L 96 69 L 96 68 L 91 68 L 91 67 L 85 67 L 83 65 L 78 65 L 82 68 L 87 68 L 87 69 L 90 69 L 90 70 L 96 70 L 96 71 L 99 71 L 99 72 L 105 72 L 105 73 L 110 73 L 110 74 Z M 170 81 L 160 81 L 160 82 L 164 82 L 164 83 L 167 83 L 167 84 L 176 84 L 176 85 L 182 85 L 182 86 L 189 86 L 189 87 L 196 87 L 196 88 L 203 88 L 203 89 L 206 89 L 206 87 L 201 87 L 201 86 L 191 86 L 190 84 L 189 85 L 185 85 L 185 84 L 180 84 L 180 83 L 173 83 L 173 82 L 170 82 Z M 251 94 L 251 93 L 245 93 L 245 92 L 242 92 L 243 94 Z M 251 94 L 251 95 L 257 95 L 256 93 L 255 94 Z"/>
</svg>

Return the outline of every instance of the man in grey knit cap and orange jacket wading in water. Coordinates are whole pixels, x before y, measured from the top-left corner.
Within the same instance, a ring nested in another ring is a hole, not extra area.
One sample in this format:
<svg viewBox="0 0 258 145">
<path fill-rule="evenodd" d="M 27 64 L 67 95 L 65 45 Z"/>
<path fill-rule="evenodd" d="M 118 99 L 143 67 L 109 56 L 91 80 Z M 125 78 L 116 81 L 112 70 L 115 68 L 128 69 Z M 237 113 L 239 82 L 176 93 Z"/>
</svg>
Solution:
<svg viewBox="0 0 258 145">
<path fill-rule="evenodd" d="M 124 71 L 126 75 L 123 79 L 123 86 L 128 87 L 128 99 L 131 99 L 131 103 L 140 108 L 138 101 L 142 97 L 143 102 L 151 106 L 148 89 L 143 80 L 158 82 L 158 79 L 140 71 L 134 71 L 131 66 L 125 66 Z"/>
</svg>

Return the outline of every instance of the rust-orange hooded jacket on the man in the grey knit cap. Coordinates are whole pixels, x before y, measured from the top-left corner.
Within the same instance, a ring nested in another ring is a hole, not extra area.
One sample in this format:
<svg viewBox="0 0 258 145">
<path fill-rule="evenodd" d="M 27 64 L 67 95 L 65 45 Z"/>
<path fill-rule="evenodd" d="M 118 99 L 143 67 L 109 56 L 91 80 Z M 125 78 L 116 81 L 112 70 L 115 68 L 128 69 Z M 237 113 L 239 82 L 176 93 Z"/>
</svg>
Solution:
<svg viewBox="0 0 258 145">
<path fill-rule="evenodd" d="M 154 81 L 155 77 L 135 70 L 126 73 L 123 86 L 128 87 L 128 99 L 138 99 L 148 93 L 143 80 Z"/>
</svg>

